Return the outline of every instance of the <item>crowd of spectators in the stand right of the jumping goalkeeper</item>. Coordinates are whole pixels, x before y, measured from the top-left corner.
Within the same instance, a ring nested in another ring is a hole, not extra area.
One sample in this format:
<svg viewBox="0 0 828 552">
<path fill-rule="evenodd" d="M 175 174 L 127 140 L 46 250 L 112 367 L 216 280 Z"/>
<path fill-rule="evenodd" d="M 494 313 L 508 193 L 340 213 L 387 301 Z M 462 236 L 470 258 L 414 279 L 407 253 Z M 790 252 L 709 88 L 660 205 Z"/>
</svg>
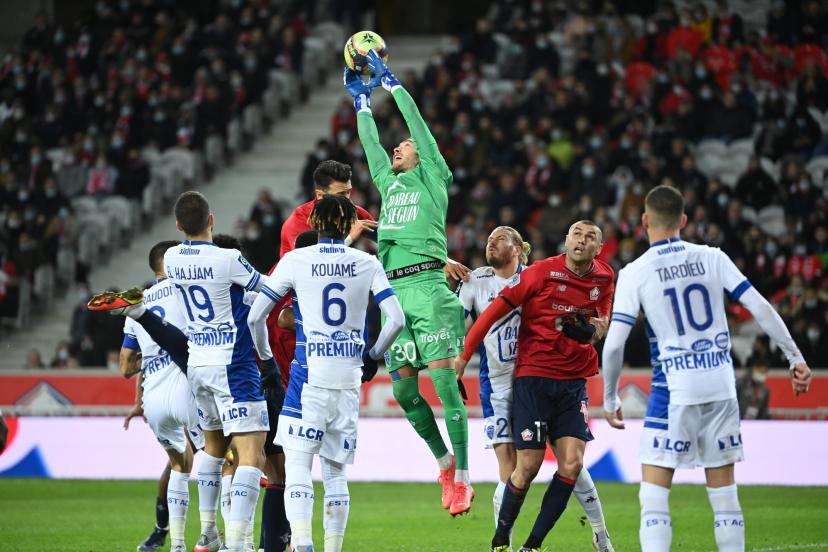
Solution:
<svg viewBox="0 0 828 552">
<path fill-rule="evenodd" d="M 815 1 L 753 3 L 754 21 L 767 8 L 757 28 L 723 0 L 712 11 L 662 2 L 646 17 L 620 4 L 494 2 L 422 74 L 403 75 L 454 172 L 449 254 L 484 265 L 488 232 L 505 224 L 544 258 L 588 218 L 618 269 L 647 247 L 647 191 L 670 183 L 688 204 L 685 238 L 732 256 L 809 363 L 828 366 L 826 13 Z M 390 151 L 406 136 L 402 118 L 379 101 L 374 116 L 391 129 Z M 306 196 L 308 171 L 328 157 L 353 166 L 354 199 L 377 216 L 349 100 L 308 157 Z M 735 341 L 743 336 L 737 361 L 758 360 L 749 315 L 730 312 Z M 629 358 L 646 366 L 643 330 L 637 337 Z M 773 350 L 766 357 L 786 366 Z"/>
</svg>

